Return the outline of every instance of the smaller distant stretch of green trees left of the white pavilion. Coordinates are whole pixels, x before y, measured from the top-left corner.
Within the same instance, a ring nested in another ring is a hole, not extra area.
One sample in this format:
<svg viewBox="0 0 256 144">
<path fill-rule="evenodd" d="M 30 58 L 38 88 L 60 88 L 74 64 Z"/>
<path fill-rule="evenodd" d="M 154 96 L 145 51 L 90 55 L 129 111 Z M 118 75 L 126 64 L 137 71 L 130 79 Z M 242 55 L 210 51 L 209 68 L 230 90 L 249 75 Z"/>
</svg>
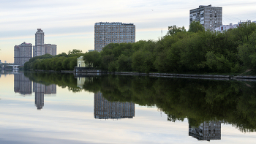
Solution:
<svg viewBox="0 0 256 144">
<path fill-rule="evenodd" d="M 45 54 L 42 56 L 36 56 L 30 58 L 28 62 L 24 64 L 24 69 L 42 69 L 42 70 L 73 70 L 78 65 L 78 57 L 83 56 L 81 50 L 72 50 L 68 53 L 61 53 L 56 56 Z"/>
</svg>

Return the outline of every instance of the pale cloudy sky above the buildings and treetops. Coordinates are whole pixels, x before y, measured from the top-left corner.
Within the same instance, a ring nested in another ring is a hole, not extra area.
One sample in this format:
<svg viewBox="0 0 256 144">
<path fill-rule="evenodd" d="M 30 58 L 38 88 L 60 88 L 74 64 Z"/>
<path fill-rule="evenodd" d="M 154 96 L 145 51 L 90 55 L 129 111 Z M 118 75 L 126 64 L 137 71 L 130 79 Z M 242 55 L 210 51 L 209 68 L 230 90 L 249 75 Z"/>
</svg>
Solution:
<svg viewBox="0 0 256 144">
<path fill-rule="evenodd" d="M 222 24 L 256 20 L 255 0 L 0 0 L 0 60 L 14 62 L 14 46 L 34 45 L 37 29 L 57 53 L 94 49 L 94 23 L 134 23 L 136 42 L 158 40 L 168 26 L 189 29 L 189 10 L 199 5 L 222 7 Z M 161 30 L 163 31 L 161 34 Z"/>
</svg>

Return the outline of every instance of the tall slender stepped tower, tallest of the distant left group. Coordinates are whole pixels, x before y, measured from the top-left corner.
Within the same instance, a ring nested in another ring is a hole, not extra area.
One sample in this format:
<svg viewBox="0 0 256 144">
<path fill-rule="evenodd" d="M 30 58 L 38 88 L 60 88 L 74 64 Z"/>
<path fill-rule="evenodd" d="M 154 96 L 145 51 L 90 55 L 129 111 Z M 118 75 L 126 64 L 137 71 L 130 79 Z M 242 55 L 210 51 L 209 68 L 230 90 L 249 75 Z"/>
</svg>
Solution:
<svg viewBox="0 0 256 144">
<path fill-rule="evenodd" d="M 33 48 L 33 57 L 35 56 L 42 56 L 45 54 L 45 33 L 42 29 L 37 29 L 35 34 L 35 46 Z"/>
</svg>

